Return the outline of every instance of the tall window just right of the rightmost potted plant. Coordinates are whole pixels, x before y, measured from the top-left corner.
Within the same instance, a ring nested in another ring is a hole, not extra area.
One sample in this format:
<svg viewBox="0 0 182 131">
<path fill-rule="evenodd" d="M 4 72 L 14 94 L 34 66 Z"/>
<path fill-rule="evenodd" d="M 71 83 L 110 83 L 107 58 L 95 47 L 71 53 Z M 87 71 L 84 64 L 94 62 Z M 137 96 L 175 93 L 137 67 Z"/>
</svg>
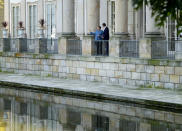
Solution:
<svg viewBox="0 0 182 131">
<path fill-rule="evenodd" d="M 46 4 L 46 36 L 54 38 L 56 35 L 56 5 L 55 3 Z"/>
</svg>

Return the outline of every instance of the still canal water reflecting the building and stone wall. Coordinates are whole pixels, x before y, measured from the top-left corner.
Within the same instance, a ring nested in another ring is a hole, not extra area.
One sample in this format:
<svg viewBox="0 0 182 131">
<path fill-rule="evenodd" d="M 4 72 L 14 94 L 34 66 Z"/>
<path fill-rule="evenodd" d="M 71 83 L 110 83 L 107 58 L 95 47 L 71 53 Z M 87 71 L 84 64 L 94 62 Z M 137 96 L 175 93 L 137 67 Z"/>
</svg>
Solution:
<svg viewBox="0 0 182 131">
<path fill-rule="evenodd" d="M 0 131 L 182 131 L 180 111 L 0 88 Z"/>
</svg>

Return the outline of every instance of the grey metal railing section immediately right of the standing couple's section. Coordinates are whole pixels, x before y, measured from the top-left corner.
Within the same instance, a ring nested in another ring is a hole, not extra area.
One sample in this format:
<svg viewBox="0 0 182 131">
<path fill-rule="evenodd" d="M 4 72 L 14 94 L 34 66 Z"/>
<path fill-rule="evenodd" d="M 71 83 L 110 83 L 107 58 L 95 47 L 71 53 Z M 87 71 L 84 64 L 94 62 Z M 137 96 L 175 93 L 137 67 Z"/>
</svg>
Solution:
<svg viewBox="0 0 182 131">
<path fill-rule="evenodd" d="M 119 45 L 120 57 L 139 57 L 139 41 L 137 40 L 122 40 Z"/>
</svg>

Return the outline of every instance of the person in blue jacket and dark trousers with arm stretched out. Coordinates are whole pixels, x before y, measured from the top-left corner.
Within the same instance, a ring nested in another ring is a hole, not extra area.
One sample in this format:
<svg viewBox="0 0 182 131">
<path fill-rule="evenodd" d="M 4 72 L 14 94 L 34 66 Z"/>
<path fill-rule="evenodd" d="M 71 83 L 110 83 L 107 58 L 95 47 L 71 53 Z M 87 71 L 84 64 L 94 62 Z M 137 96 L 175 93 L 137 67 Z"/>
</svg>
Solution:
<svg viewBox="0 0 182 131">
<path fill-rule="evenodd" d="M 94 47 L 96 47 L 96 55 L 102 55 L 103 31 L 101 30 L 101 26 L 98 26 L 97 30 L 95 32 L 90 32 L 90 34 L 95 36 Z"/>
</svg>

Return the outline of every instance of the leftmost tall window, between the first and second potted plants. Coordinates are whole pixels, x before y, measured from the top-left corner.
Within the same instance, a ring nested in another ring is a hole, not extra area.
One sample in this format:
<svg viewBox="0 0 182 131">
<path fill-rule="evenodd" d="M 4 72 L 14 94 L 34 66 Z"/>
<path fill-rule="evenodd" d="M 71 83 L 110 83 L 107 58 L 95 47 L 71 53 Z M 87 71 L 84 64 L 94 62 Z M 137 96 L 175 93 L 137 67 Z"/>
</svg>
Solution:
<svg viewBox="0 0 182 131">
<path fill-rule="evenodd" d="M 12 7 L 12 26 L 13 26 L 13 37 L 18 36 L 18 22 L 20 19 L 20 7 L 19 6 L 13 6 Z"/>
</svg>

